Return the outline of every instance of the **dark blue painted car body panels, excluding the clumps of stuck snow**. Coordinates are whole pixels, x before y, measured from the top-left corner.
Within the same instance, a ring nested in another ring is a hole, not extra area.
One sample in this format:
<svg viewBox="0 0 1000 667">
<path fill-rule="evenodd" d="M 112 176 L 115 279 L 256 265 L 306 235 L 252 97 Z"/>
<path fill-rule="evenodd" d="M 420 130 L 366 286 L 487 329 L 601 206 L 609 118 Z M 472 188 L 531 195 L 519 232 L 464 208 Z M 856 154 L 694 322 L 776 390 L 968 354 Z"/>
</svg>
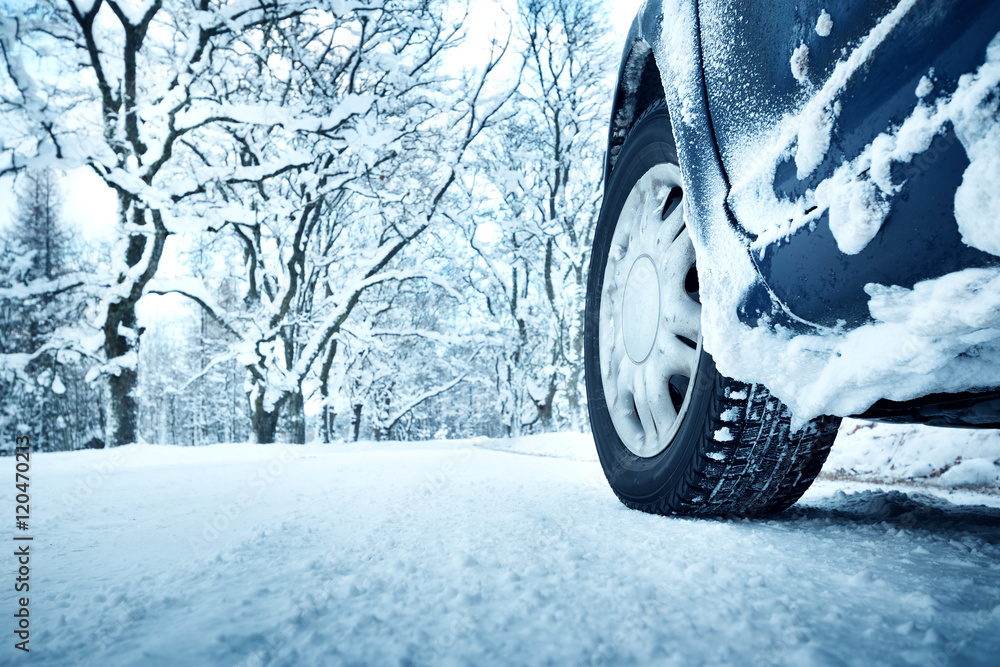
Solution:
<svg viewBox="0 0 1000 667">
<path fill-rule="evenodd" d="M 629 125 L 644 108 L 666 98 L 675 118 L 679 97 L 671 87 L 697 91 L 685 102 L 691 107 L 685 109 L 687 121 L 673 122 L 678 155 L 690 175 L 688 214 L 696 235 L 707 239 L 725 226 L 746 246 L 757 271 L 757 281 L 740 305 L 740 320 L 749 326 L 758 326 L 763 316 L 803 333 L 849 330 L 871 321 L 868 284 L 912 288 L 963 269 L 1000 266 L 1000 257 L 967 245 L 959 233 L 954 198 L 969 157 L 952 127 L 926 151 L 896 167 L 893 179 L 901 187 L 891 211 L 878 234 L 856 254 L 838 248 L 825 213 L 786 238 L 750 250 L 756 239 L 733 206 L 733 184 L 742 175 L 734 173 L 740 166 L 731 156 L 761 117 L 780 115 L 801 99 L 802 82 L 793 76 L 789 54 L 800 45 L 808 47 L 810 74 L 822 85 L 893 11 L 901 18 L 891 33 L 838 91 L 840 115 L 821 162 L 804 178 L 791 158 L 774 170 L 774 193 L 794 199 L 854 159 L 887 128 L 902 124 L 920 102 L 914 90 L 928 72 L 933 72 L 937 89 L 952 90 L 959 77 L 981 65 L 988 44 L 1000 33 L 1000 2 L 650 0 L 632 25 L 619 72 L 606 171 L 610 173 Z M 821 13 L 828 13 L 836 27 L 829 36 L 814 29 Z M 666 34 L 664 25 L 674 15 L 695 29 L 682 38 Z M 686 70 L 671 64 L 677 59 L 696 65 Z M 678 77 L 685 80 L 675 81 Z M 708 231 L 713 226 L 715 231 Z M 1000 387 L 1000 378 L 994 387 Z M 977 387 L 881 400 L 863 416 L 997 427 L 1000 391 Z"/>
</svg>

